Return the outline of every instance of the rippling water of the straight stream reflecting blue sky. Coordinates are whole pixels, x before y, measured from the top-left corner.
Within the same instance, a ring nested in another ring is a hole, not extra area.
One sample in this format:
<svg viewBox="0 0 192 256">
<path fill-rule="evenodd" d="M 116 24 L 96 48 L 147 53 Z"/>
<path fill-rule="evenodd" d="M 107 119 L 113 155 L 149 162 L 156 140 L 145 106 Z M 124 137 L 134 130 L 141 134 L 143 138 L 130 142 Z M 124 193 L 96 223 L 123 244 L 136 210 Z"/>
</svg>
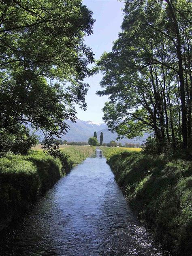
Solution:
<svg viewBox="0 0 192 256">
<path fill-rule="evenodd" d="M 167 255 L 141 226 L 97 149 L 4 234 L 0 255 Z"/>
</svg>

